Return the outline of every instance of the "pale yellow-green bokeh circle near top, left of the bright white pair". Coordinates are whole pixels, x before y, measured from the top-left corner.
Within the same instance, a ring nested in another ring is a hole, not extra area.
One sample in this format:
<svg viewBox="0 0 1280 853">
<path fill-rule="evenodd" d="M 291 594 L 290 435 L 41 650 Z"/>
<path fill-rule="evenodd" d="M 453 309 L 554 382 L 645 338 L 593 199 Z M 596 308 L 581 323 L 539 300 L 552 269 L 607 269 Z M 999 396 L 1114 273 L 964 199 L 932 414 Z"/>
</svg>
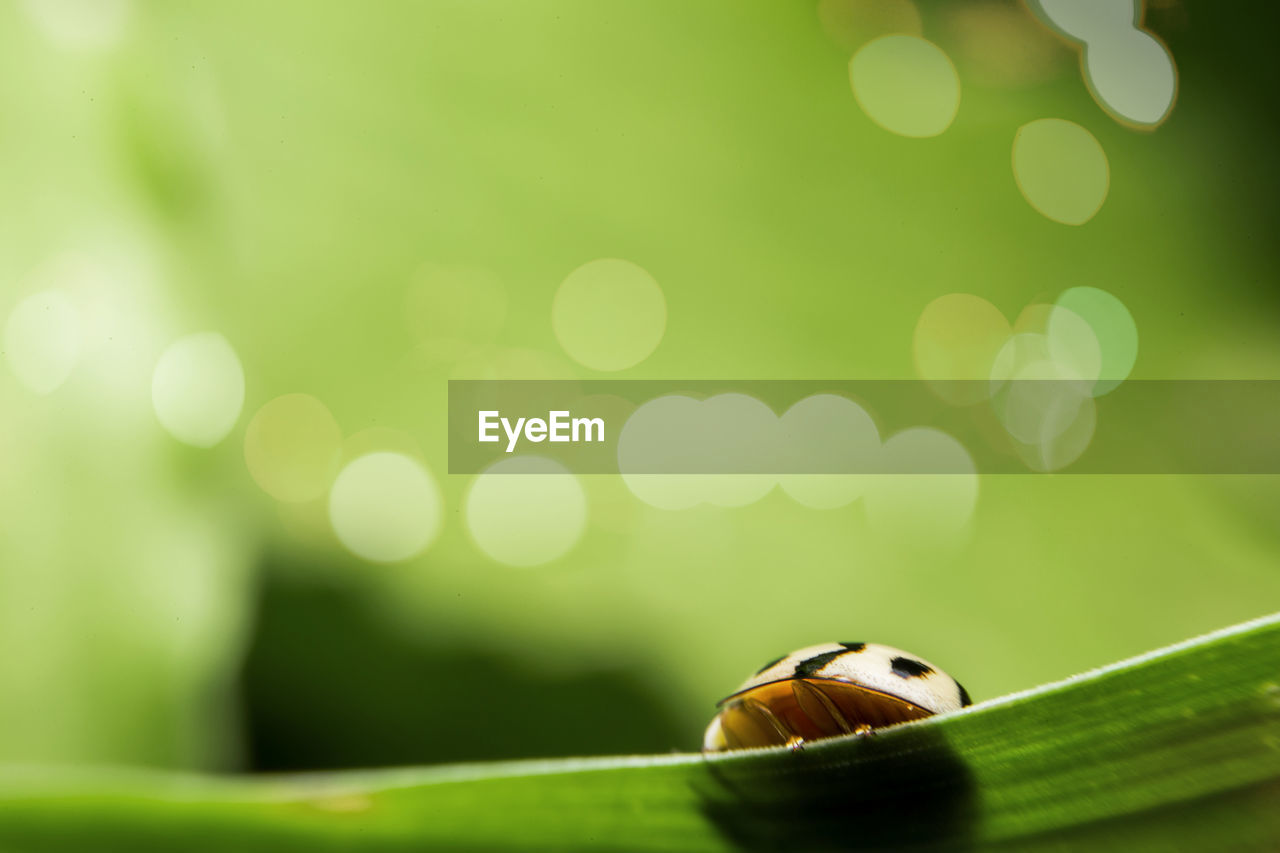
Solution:
<svg viewBox="0 0 1280 853">
<path fill-rule="evenodd" d="M 960 108 L 955 65 L 916 36 L 881 36 L 864 45 L 849 61 L 849 82 L 868 118 L 900 136 L 937 136 Z"/>
</svg>

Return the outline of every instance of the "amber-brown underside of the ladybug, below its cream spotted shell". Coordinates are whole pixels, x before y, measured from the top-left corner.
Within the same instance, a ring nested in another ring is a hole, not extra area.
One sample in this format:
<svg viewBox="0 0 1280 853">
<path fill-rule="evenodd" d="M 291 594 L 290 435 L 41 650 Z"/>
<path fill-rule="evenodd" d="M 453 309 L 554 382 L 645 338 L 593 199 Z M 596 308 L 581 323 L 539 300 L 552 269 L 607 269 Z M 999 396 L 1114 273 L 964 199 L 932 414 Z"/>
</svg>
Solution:
<svg viewBox="0 0 1280 853">
<path fill-rule="evenodd" d="M 721 748 L 796 745 L 929 716 L 918 704 L 847 681 L 787 679 L 724 699 Z"/>
</svg>

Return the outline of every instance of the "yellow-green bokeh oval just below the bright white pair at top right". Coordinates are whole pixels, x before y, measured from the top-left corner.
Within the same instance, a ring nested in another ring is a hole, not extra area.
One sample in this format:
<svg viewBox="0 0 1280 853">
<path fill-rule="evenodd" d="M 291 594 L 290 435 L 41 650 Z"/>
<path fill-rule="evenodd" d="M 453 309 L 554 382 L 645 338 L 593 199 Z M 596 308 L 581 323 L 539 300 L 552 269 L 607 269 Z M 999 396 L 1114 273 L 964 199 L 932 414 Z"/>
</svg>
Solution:
<svg viewBox="0 0 1280 853">
<path fill-rule="evenodd" d="M 1074 122 L 1037 119 L 1014 134 L 1014 181 L 1032 207 L 1053 222 L 1082 225 L 1106 201 L 1107 155 Z"/>
</svg>

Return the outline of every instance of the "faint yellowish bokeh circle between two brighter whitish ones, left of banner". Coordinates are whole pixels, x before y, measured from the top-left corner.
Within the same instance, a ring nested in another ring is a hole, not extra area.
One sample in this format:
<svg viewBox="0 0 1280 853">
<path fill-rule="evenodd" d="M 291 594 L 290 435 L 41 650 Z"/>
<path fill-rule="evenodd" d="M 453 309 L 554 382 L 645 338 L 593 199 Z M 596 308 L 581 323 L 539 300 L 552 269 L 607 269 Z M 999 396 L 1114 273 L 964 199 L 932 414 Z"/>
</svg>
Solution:
<svg viewBox="0 0 1280 853">
<path fill-rule="evenodd" d="M 244 429 L 244 465 L 278 501 L 325 493 L 342 457 L 342 430 L 323 402 L 284 394 L 257 410 Z"/>
</svg>

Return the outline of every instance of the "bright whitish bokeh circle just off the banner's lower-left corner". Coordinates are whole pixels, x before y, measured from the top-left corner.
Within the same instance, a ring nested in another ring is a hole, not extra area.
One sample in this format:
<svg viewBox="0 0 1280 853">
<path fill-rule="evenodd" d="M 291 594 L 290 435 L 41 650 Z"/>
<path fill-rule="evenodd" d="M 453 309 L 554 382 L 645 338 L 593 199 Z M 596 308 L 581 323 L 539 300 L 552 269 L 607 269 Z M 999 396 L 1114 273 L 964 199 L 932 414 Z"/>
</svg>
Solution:
<svg viewBox="0 0 1280 853">
<path fill-rule="evenodd" d="M 372 562 L 408 560 L 440 529 L 440 491 L 430 473 L 403 453 L 360 456 L 329 492 L 329 521 L 338 540 Z"/>
</svg>

